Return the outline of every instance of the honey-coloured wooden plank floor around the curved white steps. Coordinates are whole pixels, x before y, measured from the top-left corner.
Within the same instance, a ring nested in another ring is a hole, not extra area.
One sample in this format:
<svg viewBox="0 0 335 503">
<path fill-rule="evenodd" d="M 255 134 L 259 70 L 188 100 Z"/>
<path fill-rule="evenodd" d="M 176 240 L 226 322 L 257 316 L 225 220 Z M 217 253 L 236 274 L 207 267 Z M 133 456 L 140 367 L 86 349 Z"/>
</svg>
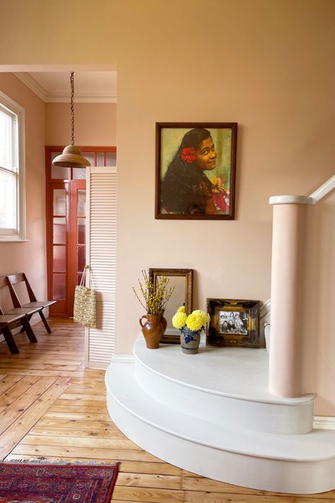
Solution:
<svg viewBox="0 0 335 503">
<path fill-rule="evenodd" d="M 119 461 L 113 503 L 335 503 L 335 491 L 282 495 L 199 477 L 161 461 L 117 429 L 105 405 L 105 371 L 85 369 L 84 330 L 49 318 L 38 342 L 0 343 L 0 459 Z M 335 477 L 335 475 L 334 475 Z"/>
</svg>

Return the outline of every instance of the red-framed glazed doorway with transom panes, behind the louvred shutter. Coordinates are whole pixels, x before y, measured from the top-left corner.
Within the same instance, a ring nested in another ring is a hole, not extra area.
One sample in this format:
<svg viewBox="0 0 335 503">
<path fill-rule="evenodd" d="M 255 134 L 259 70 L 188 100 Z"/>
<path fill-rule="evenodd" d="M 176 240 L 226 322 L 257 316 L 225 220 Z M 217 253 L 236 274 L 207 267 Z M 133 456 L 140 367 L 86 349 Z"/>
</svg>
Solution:
<svg viewBox="0 0 335 503">
<path fill-rule="evenodd" d="M 116 147 L 81 146 L 91 166 L 116 166 Z M 46 146 L 47 283 L 52 316 L 74 315 L 74 289 L 86 263 L 86 168 L 53 166 L 63 147 Z"/>
</svg>

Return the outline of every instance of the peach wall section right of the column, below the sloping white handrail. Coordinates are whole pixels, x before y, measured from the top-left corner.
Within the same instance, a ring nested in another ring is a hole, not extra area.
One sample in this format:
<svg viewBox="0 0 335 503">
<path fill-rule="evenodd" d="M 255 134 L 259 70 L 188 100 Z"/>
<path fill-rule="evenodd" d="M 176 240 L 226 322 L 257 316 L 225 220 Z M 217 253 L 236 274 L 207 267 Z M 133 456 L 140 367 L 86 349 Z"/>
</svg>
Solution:
<svg viewBox="0 0 335 503">
<path fill-rule="evenodd" d="M 305 232 L 303 391 L 317 389 L 317 413 L 335 415 L 335 191 L 308 207 Z"/>
</svg>

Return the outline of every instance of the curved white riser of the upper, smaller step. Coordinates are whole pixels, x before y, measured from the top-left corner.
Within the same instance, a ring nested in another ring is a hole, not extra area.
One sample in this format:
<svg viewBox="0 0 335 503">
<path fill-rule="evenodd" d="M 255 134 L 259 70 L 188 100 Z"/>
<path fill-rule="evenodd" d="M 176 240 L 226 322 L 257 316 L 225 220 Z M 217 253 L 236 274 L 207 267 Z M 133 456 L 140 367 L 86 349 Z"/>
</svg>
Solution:
<svg viewBox="0 0 335 503">
<path fill-rule="evenodd" d="M 159 403 L 213 424 L 279 434 L 312 430 L 313 403 L 293 406 L 206 393 L 153 373 L 137 359 L 135 376 L 143 391 Z"/>
</svg>

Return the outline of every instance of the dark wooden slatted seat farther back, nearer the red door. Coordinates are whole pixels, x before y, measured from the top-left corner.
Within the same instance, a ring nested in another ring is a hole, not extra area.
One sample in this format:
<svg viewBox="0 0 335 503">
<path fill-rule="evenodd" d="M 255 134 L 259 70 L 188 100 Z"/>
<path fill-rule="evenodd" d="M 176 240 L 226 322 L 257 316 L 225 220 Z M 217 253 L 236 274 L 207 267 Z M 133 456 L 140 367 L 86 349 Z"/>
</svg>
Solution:
<svg viewBox="0 0 335 503">
<path fill-rule="evenodd" d="M 28 320 L 30 320 L 31 316 L 33 316 L 34 313 L 39 313 L 42 322 L 45 325 L 45 328 L 47 329 L 47 333 L 51 334 L 51 330 L 49 328 L 49 325 L 47 323 L 47 320 L 45 319 L 45 316 L 43 314 L 43 309 L 49 306 L 52 306 L 52 304 L 56 303 L 56 301 L 37 301 L 35 294 L 33 292 L 32 287 L 30 287 L 30 284 L 28 282 L 27 277 L 25 276 L 24 272 L 18 272 L 17 274 L 11 274 L 10 276 L 7 276 L 7 281 L 8 281 L 8 288 L 9 291 L 11 292 L 11 299 L 13 301 L 13 306 L 15 308 L 23 308 L 23 309 L 33 309 L 34 312 L 30 315 L 28 314 Z M 14 285 L 18 283 L 25 283 L 25 288 L 28 291 L 28 296 L 30 302 L 28 303 L 21 303 L 18 294 L 16 293 L 16 290 L 14 289 Z"/>
</svg>

